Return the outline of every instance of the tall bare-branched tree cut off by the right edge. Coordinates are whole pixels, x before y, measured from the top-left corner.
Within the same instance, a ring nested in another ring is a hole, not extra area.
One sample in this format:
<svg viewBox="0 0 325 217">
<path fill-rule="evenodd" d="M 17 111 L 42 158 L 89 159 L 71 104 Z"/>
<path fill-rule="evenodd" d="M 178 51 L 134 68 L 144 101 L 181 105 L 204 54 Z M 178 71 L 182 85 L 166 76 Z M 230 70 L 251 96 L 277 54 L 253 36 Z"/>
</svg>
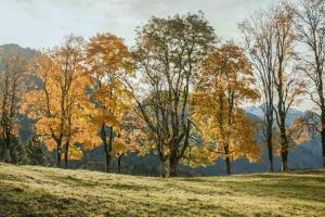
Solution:
<svg viewBox="0 0 325 217">
<path fill-rule="evenodd" d="M 296 10 L 297 40 L 304 55 L 299 69 L 307 76 L 308 94 L 316 105 L 303 118 L 312 132 L 321 135 L 323 167 L 325 168 L 325 100 L 323 71 L 325 63 L 325 1 L 301 0 Z M 301 119 L 302 120 L 302 119 Z"/>
</svg>

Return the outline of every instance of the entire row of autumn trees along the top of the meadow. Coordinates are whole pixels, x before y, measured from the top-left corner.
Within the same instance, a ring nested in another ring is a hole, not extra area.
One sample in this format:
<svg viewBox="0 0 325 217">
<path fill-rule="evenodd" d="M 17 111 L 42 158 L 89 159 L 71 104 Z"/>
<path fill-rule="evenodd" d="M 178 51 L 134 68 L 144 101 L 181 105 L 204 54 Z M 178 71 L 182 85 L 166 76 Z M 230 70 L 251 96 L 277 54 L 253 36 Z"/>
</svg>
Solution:
<svg viewBox="0 0 325 217">
<path fill-rule="evenodd" d="M 324 7 L 282 1 L 257 11 L 238 24 L 242 46 L 220 39 L 198 12 L 152 17 L 132 48 L 109 33 L 69 35 L 32 60 L 2 56 L 2 158 L 14 162 L 23 115 L 34 123 L 28 143 L 53 151 L 56 167 L 103 145 L 106 173 L 112 157 L 120 171 L 122 156 L 135 152 L 157 155 L 161 177 L 219 157 L 230 175 L 232 161 L 258 162 L 265 148 L 270 171 L 274 155 L 287 171 L 289 151 L 311 137 L 321 137 L 325 167 Z M 301 101 L 314 107 L 289 126 L 288 111 Z M 243 108 L 257 102 L 262 122 Z"/>
</svg>

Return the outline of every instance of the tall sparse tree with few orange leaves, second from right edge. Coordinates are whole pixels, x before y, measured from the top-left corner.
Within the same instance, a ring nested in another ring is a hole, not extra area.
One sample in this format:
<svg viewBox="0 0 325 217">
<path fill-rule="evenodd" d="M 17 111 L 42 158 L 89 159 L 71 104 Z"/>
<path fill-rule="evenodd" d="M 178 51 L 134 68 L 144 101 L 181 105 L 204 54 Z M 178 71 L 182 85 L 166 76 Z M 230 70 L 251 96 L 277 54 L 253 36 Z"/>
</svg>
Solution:
<svg viewBox="0 0 325 217">
<path fill-rule="evenodd" d="M 296 53 L 294 43 L 296 39 L 294 8 L 283 2 L 275 7 L 271 14 L 274 20 L 275 42 L 275 69 L 273 72 L 274 87 L 276 90 L 276 123 L 280 131 L 282 170 L 288 170 L 289 140 L 286 117 L 297 97 L 304 91 L 304 82 L 295 67 Z"/>
</svg>

